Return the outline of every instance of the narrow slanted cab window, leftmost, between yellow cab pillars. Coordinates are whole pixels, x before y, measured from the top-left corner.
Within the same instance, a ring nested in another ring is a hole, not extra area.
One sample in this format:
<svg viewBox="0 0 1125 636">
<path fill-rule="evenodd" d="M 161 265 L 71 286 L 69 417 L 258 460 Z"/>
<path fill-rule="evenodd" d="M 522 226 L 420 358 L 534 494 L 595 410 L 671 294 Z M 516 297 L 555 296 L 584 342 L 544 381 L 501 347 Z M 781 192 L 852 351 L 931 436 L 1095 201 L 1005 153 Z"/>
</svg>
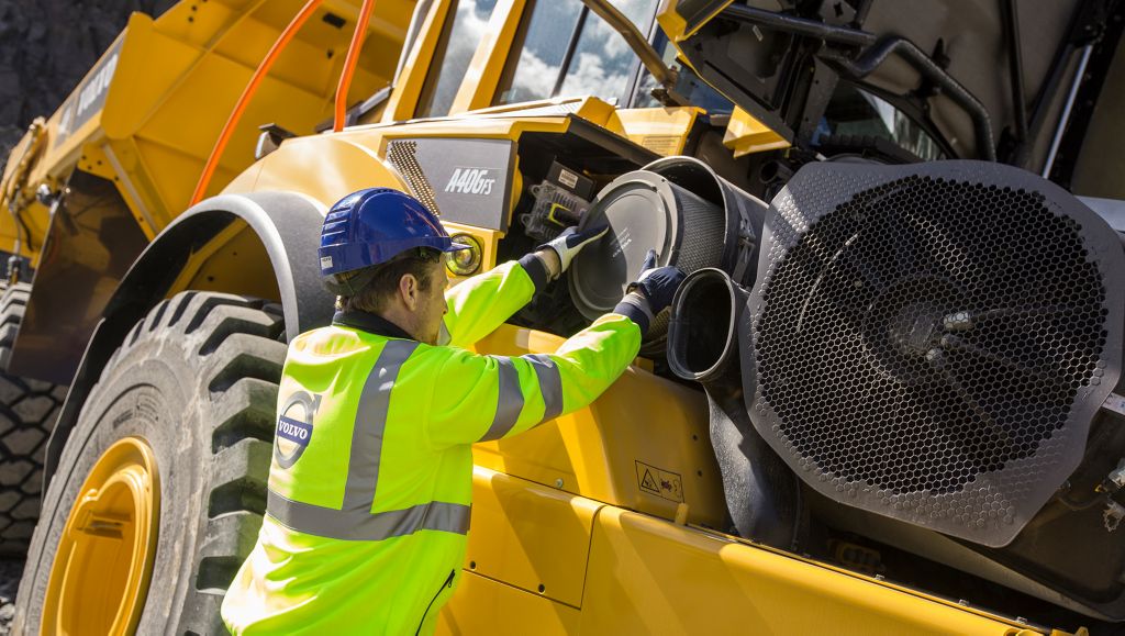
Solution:
<svg viewBox="0 0 1125 636">
<path fill-rule="evenodd" d="M 453 105 L 477 44 L 488 30 L 488 19 L 494 8 L 496 0 L 456 0 L 449 8 L 453 19 L 446 20 L 430 63 L 430 74 L 414 111 L 415 117 L 449 115 L 449 108 Z"/>
</svg>

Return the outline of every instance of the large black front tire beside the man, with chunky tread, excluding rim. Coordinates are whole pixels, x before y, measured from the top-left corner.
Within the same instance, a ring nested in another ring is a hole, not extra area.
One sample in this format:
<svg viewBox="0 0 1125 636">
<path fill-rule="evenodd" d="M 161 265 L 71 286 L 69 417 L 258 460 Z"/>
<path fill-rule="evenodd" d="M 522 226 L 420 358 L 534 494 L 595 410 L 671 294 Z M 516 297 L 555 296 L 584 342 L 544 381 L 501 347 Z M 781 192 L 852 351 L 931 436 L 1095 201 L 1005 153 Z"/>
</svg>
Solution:
<svg viewBox="0 0 1125 636">
<path fill-rule="evenodd" d="M 160 478 L 152 581 L 138 634 L 224 634 L 223 594 L 266 510 L 279 307 L 186 292 L 126 337 L 90 392 L 43 504 L 16 601 L 16 634 L 34 634 L 58 539 L 78 491 L 115 441 L 140 437 Z"/>
</svg>

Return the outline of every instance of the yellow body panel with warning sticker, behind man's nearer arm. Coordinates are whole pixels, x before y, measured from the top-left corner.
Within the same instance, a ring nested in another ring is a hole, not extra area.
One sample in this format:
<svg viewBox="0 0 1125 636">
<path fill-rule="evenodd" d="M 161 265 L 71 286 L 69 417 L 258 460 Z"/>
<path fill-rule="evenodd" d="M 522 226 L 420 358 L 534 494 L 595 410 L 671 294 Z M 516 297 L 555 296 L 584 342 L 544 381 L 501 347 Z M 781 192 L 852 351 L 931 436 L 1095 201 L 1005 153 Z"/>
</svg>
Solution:
<svg viewBox="0 0 1125 636">
<path fill-rule="evenodd" d="M 554 351 L 561 342 L 557 335 L 503 325 L 477 349 L 519 356 Z M 521 436 L 478 444 L 474 459 L 664 519 L 674 519 L 685 503 L 691 522 L 719 528 L 727 509 L 706 413 L 702 392 L 633 366 L 590 406 Z"/>
</svg>

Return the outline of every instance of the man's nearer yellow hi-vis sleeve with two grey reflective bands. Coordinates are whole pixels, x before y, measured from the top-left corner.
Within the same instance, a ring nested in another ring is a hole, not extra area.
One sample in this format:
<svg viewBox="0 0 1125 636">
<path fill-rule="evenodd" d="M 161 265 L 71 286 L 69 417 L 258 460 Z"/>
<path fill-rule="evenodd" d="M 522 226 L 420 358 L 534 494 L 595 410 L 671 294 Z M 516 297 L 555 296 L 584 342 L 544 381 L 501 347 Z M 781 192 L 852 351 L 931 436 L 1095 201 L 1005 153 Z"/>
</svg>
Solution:
<svg viewBox="0 0 1125 636">
<path fill-rule="evenodd" d="M 434 378 L 426 416 L 431 444 L 501 439 L 586 406 L 636 358 L 641 334 L 633 320 L 606 314 L 554 353 L 453 351 Z"/>
</svg>

